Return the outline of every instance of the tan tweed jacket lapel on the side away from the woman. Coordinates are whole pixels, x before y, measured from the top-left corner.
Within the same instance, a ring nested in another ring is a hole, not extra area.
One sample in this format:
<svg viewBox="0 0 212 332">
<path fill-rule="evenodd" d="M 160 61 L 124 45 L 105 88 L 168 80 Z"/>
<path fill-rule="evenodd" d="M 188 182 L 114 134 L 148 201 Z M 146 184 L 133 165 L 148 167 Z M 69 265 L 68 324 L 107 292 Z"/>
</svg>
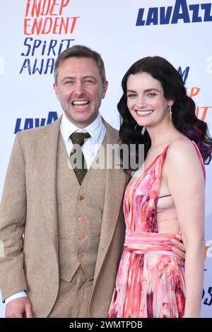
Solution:
<svg viewBox="0 0 212 332">
<path fill-rule="evenodd" d="M 61 117 L 37 136 L 37 156 L 42 191 L 42 209 L 54 245 L 58 248 L 56 167 Z"/>
</svg>

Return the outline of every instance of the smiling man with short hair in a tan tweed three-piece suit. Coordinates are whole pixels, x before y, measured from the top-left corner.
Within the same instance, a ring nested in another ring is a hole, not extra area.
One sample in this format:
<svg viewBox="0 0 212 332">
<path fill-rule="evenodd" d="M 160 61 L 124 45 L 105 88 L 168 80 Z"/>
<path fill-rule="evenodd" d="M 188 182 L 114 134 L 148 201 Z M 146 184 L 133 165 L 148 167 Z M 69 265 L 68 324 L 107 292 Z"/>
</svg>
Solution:
<svg viewBox="0 0 212 332">
<path fill-rule="evenodd" d="M 119 139 L 99 114 L 107 91 L 100 54 L 66 49 L 54 79 L 63 116 L 18 132 L 11 153 L 0 210 L 2 297 L 7 317 L 103 317 L 124 243 L 128 177 L 120 168 L 92 167 L 94 147 L 106 151 Z M 68 162 L 70 136 L 85 132 L 88 172 L 79 182 Z"/>
</svg>

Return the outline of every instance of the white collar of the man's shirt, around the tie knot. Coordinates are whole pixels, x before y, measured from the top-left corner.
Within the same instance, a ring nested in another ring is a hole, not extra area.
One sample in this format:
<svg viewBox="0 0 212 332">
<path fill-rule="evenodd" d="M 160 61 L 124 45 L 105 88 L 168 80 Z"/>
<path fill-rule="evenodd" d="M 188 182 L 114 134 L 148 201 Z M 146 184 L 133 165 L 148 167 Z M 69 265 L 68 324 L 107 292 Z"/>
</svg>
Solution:
<svg viewBox="0 0 212 332">
<path fill-rule="evenodd" d="M 80 129 L 74 124 L 72 124 L 72 122 L 67 119 L 66 114 L 63 114 L 60 130 L 65 142 L 67 142 L 71 134 L 76 131 L 78 133 L 88 132 L 90 134 L 90 137 L 93 139 L 93 143 L 97 143 L 98 138 L 100 137 L 100 133 L 102 131 L 102 126 L 103 122 L 100 113 L 98 113 L 98 117 L 96 117 L 95 120 L 84 129 Z"/>
</svg>

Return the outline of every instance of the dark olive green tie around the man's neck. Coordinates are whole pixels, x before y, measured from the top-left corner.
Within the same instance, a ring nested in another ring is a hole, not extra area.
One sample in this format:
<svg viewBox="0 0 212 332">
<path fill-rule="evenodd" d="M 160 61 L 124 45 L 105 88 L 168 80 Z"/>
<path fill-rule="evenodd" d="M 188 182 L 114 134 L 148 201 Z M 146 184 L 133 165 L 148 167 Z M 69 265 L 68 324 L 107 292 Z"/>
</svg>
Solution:
<svg viewBox="0 0 212 332">
<path fill-rule="evenodd" d="M 88 133 L 73 133 L 70 138 L 73 143 L 73 148 L 70 154 L 70 162 L 73 168 L 73 171 L 76 174 L 76 178 L 78 179 L 78 183 L 81 185 L 83 179 L 88 171 L 88 167 L 86 165 L 86 159 L 83 155 L 83 151 L 81 147 L 85 143 L 85 140 L 90 137 Z M 76 146 L 77 145 L 77 146 Z"/>
</svg>

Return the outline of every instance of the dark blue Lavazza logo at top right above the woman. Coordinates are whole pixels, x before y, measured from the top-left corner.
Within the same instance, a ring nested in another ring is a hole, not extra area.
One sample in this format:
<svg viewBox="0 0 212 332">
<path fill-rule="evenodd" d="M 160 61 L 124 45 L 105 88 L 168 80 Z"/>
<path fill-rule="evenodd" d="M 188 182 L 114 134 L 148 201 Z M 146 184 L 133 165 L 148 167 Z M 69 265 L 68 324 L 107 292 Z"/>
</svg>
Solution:
<svg viewBox="0 0 212 332">
<path fill-rule="evenodd" d="M 189 4 L 176 0 L 174 6 L 139 8 L 136 25 L 164 25 L 212 21 L 211 4 Z"/>
</svg>

